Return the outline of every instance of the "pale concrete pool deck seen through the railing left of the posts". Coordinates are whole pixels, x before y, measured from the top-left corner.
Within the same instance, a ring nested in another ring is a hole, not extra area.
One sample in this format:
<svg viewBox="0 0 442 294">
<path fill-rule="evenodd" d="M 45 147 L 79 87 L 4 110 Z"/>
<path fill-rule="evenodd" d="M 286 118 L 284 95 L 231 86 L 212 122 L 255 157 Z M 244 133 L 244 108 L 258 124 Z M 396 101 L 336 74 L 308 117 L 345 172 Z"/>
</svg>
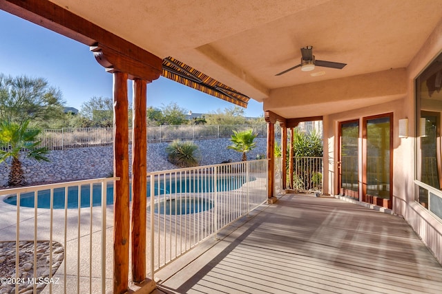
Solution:
<svg viewBox="0 0 442 294">
<path fill-rule="evenodd" d="M 5 196 L 0 196 L 0 241 L 15 241 L 17 229 L 17 207 L 3 202 Z M 19 239 L 34 240 L 35 209 L 20 207 Z M 54 209 L 52 216 L 50 209 L 37 209 L 37 240 L 50 240 L 50 220 L 52 218 L 52 240 L 64 247 L 64 260 L 54 277 L 57 284 L 46 286 L 41 293 L 64 293 L 66 271 L 66 293 L 77 293 L 77 281 L 80 280 L 79 293 L 89 292 L 89 273 L 92 278 L 92 293 L 101 293 L 101 240 L 102 240 L 102 209 L 88 208 Z M 78 217 L 80 214 L 80 222 Z M 65 239 L 66 217 L 66 239 Z M 92 220 L 92 222 L 91 222 Z M 90 224 L 92 226 L 90 227 Z M 113 206 L 106 206 L 106 252 L 113 252 Z M 78 229 L 80 227 L 80 229 Z M 90 246 L 90 244 L 92 244 Z M 93 258 L 90 259 L 90 250 Z M 79 258 L 78 257 L 79 253 Z M 66 265 L 66 269 L 65 269 Z M 91 268 L 90 268 L 91 266 Z M 106 258 L 106 293 L 112 290 L 112 255 Z M 91 269 L 91 271 L 90 271 Z M 77 277 L 77 273 L 80 273 Z M 59 279 L 59 280 L 58 280 Z"/>
</svg>

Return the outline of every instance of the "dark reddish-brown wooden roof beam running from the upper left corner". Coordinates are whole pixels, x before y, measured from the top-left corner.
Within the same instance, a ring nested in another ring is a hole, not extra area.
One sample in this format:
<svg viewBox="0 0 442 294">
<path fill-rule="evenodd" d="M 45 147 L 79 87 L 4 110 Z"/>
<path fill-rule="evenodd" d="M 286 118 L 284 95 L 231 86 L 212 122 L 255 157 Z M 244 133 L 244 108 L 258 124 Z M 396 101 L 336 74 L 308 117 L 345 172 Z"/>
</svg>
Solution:
<svg viewBox="0 0 442 294">
<path fill-rule="evenodd" d="M 148 71 L 156 72 L 158 76 L 162 74 L 162 59 L 160 57 L 48 0 L 2 0 L 0 1 L 0 9 L 85 45 L 101 44 L 106 46 L 109 50 L 122 56 L 121 59 L 131 59 L 134 63 L 142 64 L 143 70 L 149 68 Z M 118 68 L 118 70 L 137 76 L 131 72 L 131 67 L 128 69 Z M 146 80 L 151 81 L 149 78 Z"/>
</svg>

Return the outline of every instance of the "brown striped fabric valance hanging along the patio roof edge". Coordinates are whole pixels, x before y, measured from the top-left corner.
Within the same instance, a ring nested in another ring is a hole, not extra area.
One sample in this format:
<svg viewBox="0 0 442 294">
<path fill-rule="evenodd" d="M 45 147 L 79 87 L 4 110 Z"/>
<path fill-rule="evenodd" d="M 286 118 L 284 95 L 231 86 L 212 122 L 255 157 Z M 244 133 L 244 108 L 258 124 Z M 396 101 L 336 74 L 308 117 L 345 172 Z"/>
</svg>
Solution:
<svg viewBox="0 0 442 294">
<path fill-rule="evenodd" d="M 216 81 L 193 67 L 177 61 L 172 57 L 163 59 L 163 74 L 165 78 L 192 87 L 211 96 L 221 98 L 236 105 L 247 107 L 249 97 L 237 92 L 231 87 Z"/>
</svg>

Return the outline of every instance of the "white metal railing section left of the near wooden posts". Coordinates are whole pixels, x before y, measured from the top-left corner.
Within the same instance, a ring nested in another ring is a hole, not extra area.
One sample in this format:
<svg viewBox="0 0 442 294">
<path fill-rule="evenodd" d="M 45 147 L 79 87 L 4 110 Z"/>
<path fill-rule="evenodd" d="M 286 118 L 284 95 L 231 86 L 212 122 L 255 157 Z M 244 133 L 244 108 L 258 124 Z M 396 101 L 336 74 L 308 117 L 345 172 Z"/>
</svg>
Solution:
<svg viewBox="0 0 442 294">
<path fill-rule="evenodd" d="M 8 291 L 111 291 L 112 280 L 106 277 L 112 278 L 112 262 L 106 261 L 106 244 L 113 235 L 106 234 L 112 224 L 106 204 L 112 202 L 107 184 L 114 180 L 0 190 L 0 240 L 3 249 L 6 241 L 15 247 L 15 257 L 8 255 L 15 259 L 15 273 L 2 280 Z M 27 253 L 32 258 L 23 260 Z"/>
</svg>

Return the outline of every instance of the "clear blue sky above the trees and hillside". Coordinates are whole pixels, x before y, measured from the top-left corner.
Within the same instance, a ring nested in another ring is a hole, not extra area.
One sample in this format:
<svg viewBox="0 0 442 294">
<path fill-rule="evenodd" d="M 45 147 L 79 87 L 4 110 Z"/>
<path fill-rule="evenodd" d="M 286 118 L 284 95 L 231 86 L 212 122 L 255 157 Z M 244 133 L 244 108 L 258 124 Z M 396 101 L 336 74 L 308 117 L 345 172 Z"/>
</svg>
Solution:
<svg viewBox="0 0 442 294">
<path fill-rule="evenodd" d="M 99 65 L 88 46 L 0 10 L 0 72 L 46 78 L 63 93 L 66 106 L 80 109 L 92 96 L 112 97 L 112 74 Z M 194 113 L 215 112 L 233 104 L 160 77 L 148 84 L 148 106 L 176 102 Z M 262 116 L 251 99 L 246 116 Z"/>
</svg>

